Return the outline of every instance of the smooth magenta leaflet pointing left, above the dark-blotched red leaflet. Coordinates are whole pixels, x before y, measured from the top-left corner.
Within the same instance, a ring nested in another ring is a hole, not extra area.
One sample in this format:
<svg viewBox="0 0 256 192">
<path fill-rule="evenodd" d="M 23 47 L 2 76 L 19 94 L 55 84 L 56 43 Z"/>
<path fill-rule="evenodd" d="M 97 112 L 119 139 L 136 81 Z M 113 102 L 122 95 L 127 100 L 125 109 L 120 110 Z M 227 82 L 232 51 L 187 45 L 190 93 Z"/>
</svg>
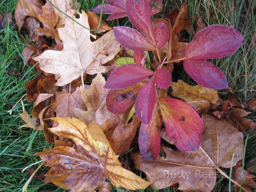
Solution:
<svg viewBox="0 0 256 192">
<path fill-rule="evenodd" d="M 108 77 L 104 88 L 124 89 L 143 81 L 154 72 L 136 64 L 122 65 L 116 68 Z"/>
</svg>

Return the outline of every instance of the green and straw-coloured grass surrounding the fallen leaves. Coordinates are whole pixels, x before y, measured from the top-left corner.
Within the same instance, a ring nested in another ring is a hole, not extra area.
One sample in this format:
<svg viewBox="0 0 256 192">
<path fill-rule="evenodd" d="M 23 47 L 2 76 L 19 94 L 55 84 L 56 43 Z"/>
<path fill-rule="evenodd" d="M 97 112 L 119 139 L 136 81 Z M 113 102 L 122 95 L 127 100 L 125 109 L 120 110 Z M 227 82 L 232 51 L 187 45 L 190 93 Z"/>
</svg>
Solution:
<svg viewBox="0 0 256 192">
<path fill-rule="evenodd" d="M 14 9 L 17 0 L 2 0 L 0 3 L 0 13 L 11 12 L 14 15 Z M 182 1 L 184 2 L 184 1 Z M 188 16 L 196 23 L 196 17 L 200 16 L 206 25 L 224 24 L 235 27 L 244 36 L 244 43 L 241 48 L 231 56 L 212 60 L 214 64 L 220 67 L 226 74 L 229 86 L 232 87 L 237 98 L 245 102 L 256 96 L 256 31 L 255 15 L 253 7 L 255 1 L 218 1 L 215 4 L 213 0 L 188 0 Z M 101 3 L 100 0 L 80 1 L 81 8 L 86 10 Z M 180 8 L 179 0 L 164 0 L 164 12 L 167 13 L 173 7 Z M 159 15 L 158 15 L 159 16 Z M 106 15 L 103 16 L 106 19 Z M 130 25 L 127 18 L 107 22 L 110 26 Z M 194 25 L 195 27 L 196 25 Z M 20 39 L 19 32 L 13 27 L 6 27 L 0 31 L 0 191 L 21 191 L 23 185 L 28 180 L 27 172 L 21 173 L 21 170 L 29 164 L 39 161 L 38 157 L 32 154 L 41 152 L 43 148 L 48 148 L 49 144 L 44 140 L 42 132 L 31 129 L 18 129 L 23 124 L 19 113 L 22 112 L 19 103 L 13 110 L 12 115 L 7 113 L 13 105 L 26 93 L 25 84 L 28 80 L 36 76 L 35 71 L 28 65 L 23 65 L 21 52 L 24 49 L 24 43 Z M 10 71 L 19 71 L 20 75 L 11 75 Z M 173 81 L 178 78 L 183 81 L 194 84 L 186 73 L 173 76 Z M 221 90 L 222 98 L 227 97 L 227 90 Z M 33 107 L 23 99 L 26 110 L 30 113 Z M 249 118 L 255 119 L 256 114 L 252 113 Z M 256 157 L 256 132 L 249 134 L 247 143 L 245 163 Z M 39 164 L 38 164 L 39 165 Z M 33 166 L 36 168 L 37 166 Z M 228 189 L 227 179 L 217 179 L 213 191 L 224 191 Z M 151 189 L 141 190 L 148 191 Z M 43 183 L 42 180 L 32 180 L 28 186 L 28 191 L 63 191 L 52 184 Z M 151 190 L 152 191 L 152 190 Z M 155 190 L 154 190 L 155 191 Z M 163 191 L 175 191 L 172 188 L 166 188 Z"/>
</svg>

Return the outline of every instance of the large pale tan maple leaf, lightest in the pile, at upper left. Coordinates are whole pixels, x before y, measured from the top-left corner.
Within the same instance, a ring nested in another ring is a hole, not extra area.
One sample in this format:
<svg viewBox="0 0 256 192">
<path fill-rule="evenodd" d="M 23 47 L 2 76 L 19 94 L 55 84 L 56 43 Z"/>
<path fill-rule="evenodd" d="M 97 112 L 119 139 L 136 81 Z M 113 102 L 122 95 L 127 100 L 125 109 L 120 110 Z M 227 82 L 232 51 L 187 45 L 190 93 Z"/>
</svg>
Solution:
<svg viewBox="0 0 256 192">
<path fill-rule="evenodd" d="M 79 13 L 79 19 L 76 19 L 74 13 L 75 10 L 68 11 L 68 15 L 74 20 L 89 28 L 85 12 Z M 67 17 L 65 27 L 59 28 L 58 31 L 63 42 L 63 50 L 47 50 L 33 58 L 39 62 L 43 71 L 60 75 L 55 84 L 58 86 L 68 84 L 84 73 L 93 75 L 107 72 L 108 67 L 103 64 L 113 59 L 120 50 L 112 30 L 91 42 L 90 31 Z"/>
</svg>

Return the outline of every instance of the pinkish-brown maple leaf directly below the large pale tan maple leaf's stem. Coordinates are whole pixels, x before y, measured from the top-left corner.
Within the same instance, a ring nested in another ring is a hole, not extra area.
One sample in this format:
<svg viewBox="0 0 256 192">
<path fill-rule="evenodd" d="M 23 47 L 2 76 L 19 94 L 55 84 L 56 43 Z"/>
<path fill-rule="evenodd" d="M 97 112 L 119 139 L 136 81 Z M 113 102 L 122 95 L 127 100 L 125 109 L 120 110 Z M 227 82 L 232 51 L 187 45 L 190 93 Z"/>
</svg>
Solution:
<svg viewBox="0 0 256 192">
<path fill-rule="evenodd" d="M 73 108 L 79 108 L 86 111 L 86 105 L 81 96 L 80 87 L 75 92 L 56 92 L 54 105 L 50 109 L 50 117 L 77 117 L 73 112 Z"/>
</svg>

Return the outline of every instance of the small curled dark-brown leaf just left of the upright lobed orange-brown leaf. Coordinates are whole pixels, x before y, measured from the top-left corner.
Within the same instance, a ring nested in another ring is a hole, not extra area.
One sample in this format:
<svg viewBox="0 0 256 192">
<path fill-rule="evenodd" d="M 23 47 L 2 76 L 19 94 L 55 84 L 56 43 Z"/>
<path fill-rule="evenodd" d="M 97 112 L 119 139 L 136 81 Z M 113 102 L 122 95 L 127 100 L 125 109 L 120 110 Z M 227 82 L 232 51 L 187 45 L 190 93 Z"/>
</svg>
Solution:
<svg viewBox="0 0 256 192">
<path fill-rule="evenodd" d="M 40 22 L 35 17 L 26 17 L 24 20 L 23 27 L 26 28 L 28 33 L 29 41 L 36 41 L 36 28 L 40 26 Z"/>
</svg>

